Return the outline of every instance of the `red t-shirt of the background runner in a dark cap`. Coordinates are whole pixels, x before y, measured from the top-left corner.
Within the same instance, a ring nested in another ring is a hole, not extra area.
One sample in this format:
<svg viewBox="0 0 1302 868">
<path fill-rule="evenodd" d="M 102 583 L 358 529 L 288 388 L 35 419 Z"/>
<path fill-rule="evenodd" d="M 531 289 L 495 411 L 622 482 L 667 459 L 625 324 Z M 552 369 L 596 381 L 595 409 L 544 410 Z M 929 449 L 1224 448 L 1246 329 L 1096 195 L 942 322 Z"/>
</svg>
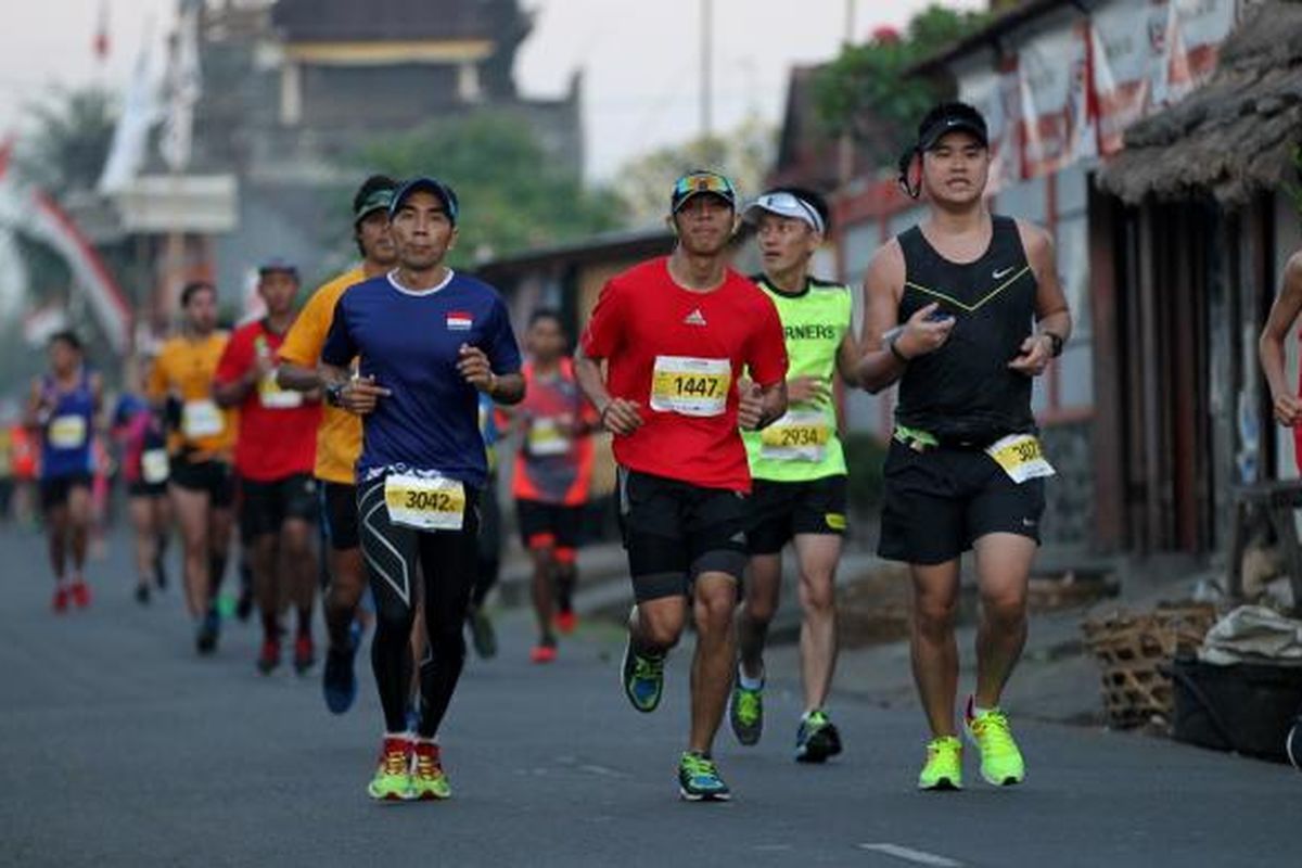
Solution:
<svg viewBox="0 0 1302 868">
<path fill-rule="evenodd" d="M 241 379 L 254 367 L 258 355 L 275 359 L 281 341 L 284 336 L 268 329 L 263 320 L 241 325 L 227 342 L 214 381 L 225 384 Z M 281 390 L 273 375 L 263 380 L 240 405 L 236 471 L 255 481 L 312 472 L 320 418 L 320 403 L 303 400 L 299 392 Z"/>
</svg>

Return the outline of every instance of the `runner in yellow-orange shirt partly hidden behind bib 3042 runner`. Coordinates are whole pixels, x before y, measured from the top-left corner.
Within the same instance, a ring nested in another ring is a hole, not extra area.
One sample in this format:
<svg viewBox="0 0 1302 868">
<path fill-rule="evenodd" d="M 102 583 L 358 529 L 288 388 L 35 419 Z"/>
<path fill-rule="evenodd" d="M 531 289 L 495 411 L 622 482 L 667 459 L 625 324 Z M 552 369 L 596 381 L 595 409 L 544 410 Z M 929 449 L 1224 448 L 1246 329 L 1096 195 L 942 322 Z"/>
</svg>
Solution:
<svg viewBox="0 0 1302 868">
<path fill-rule="evenodd" d="M 397 263 L 397 250 L 389 236 L 389 202 L 397 183 L 384 176 L 371 176 L 353 197 L 353 237 L 362 264 L 344 272 L 315 293 L 303 306 L 280 347 L 280 385 L 314 390 L 322 387 L 316 366 L 326 334 L 335 320 L 335 303 L 349 286 L 384 275 Z M 337 397 L 327 402 L 316 436 L 316 467 L 322 481 L 322 526 L 331 545 L 331 582 L 326 591 L 326 626 L 329 651 L 322 687 L 326 705 L 336 714 L 352 707 L 357 696 L 353 657 L 357 643 L 352 634 L 357 606 L 366 591 L 366 573 L 357 536 L 357 485 L 353 466 L 362 452 L 362 420 L 341 410 Z"/>
</svg>

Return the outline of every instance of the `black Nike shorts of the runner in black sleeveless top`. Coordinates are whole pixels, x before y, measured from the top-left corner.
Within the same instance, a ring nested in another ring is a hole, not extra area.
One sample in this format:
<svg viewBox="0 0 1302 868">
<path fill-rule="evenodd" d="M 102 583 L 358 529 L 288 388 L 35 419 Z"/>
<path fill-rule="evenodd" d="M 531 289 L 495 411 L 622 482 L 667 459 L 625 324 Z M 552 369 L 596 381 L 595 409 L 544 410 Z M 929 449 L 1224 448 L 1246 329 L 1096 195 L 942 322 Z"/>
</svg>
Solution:
<svg viewBox="0 0 1302 868">
<path fill-rule="evenodd" d="M 944 563 L 987 534 L 1040 541 L 1044 480 L 1009 479 L 976 448 L 917 452 L 892 440 L 887 453 L 878 554 L 907 563 Z"/>
</svg>

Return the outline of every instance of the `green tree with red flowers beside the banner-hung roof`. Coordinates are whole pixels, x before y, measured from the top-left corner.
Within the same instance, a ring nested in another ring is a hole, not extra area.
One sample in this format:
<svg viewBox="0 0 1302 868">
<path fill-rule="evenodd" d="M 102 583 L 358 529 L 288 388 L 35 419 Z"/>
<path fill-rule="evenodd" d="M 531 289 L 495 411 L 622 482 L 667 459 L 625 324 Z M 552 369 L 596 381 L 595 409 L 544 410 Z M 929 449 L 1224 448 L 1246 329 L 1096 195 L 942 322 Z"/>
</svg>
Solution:
<svg viewBox="0 0 1302 868">
<path fill-rule="evenodd" d="M 988 12 L 931 5 L 898 38 L 842 48 L 814 79 L 815 111 L 828 134 L 849 133 L 874 160 L 893 161 L 913 139 L 918 117 L 947 95 L 941 85 L 909 75 L 909 69 L 988 21 Z"/>
</svg>

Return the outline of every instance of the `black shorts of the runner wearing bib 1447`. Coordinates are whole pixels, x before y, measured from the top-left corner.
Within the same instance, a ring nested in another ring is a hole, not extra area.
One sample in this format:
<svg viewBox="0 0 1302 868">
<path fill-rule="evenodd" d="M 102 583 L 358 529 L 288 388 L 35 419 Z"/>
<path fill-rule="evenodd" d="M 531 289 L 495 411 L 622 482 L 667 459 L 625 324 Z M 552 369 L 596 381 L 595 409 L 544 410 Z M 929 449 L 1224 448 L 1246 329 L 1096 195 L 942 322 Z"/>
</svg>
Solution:
<svg viewBox="0 0 1302 868">
<path fill-rule="evenodd" d="M 691 592 L 702 573 L 741 583 L 746 569 L 746 496 L 724 488 L 620 468 L 620 528 L 639 603 Z"/>
</svg>

